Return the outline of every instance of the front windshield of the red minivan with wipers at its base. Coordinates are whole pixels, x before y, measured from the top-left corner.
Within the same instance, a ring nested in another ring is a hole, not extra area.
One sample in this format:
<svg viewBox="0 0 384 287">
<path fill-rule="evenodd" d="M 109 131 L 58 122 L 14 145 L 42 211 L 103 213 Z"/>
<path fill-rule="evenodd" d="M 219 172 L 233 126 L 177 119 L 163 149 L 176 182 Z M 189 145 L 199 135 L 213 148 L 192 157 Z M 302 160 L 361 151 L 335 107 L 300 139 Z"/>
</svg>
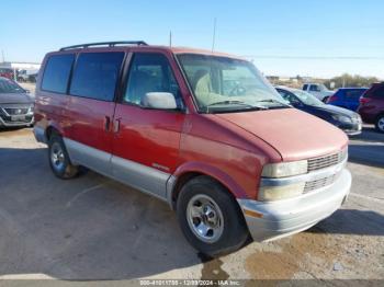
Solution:
<svg viewBox="0 0 384 287">
<path fill-rule="evenodd" d="M 196 54 L 178 55 L 199 111 L 228 113 L 290 107 L 246 60 Z"/>
</svg>

